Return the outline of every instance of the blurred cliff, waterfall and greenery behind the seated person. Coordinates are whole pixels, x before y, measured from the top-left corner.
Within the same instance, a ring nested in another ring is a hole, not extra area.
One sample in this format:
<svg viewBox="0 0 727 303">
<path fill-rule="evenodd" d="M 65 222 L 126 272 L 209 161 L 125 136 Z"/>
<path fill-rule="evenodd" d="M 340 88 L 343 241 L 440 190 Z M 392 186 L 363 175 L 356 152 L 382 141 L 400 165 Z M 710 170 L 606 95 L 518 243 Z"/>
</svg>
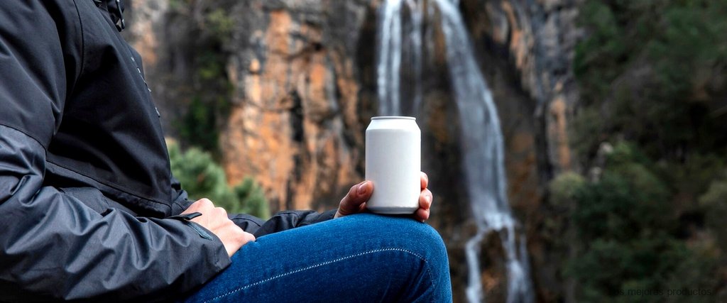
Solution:
<svg viewBox="0 0 727 303">
<path fill-rule="evenodd" d="M 727 301 L 727 1 L 126 0 L 193 198 L 337 206 L 417 116 L 455 302 Z M 677 292 L 678 291 L 678 292 Z"/>
</svg>

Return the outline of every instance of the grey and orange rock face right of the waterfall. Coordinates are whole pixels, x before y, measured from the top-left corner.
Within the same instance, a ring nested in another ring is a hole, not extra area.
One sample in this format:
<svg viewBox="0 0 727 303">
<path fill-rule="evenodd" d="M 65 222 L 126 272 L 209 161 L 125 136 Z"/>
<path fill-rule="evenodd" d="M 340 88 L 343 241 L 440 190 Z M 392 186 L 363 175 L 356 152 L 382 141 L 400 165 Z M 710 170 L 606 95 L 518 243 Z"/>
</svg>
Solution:
<svg viewBox="0 0 727 303">
<path fill-rule="evenodd" d="M 510 205 L 528 237 L 537 300 L 545 302 L 562 301 L 568 293 L 558 271 L 565 256 L 548 249 L 551 245 L 541 235 L 548 219 L 544 210 L 550 207 L 542 197 L 553 175 L 578 169 L 571 160 L 567 129 L 579 101 L 571 66 L 583 36 L 576 22 L 581 3 L 462 0 L 460 5 L 493 87 L 507 145 Z M 493 249 L 483 246 L 484 258 Z M 483 275 L 497 276 L 490 272 Z M 484 289 L 488 294 L 497 291 L 487 285 Z"/>
</svg>

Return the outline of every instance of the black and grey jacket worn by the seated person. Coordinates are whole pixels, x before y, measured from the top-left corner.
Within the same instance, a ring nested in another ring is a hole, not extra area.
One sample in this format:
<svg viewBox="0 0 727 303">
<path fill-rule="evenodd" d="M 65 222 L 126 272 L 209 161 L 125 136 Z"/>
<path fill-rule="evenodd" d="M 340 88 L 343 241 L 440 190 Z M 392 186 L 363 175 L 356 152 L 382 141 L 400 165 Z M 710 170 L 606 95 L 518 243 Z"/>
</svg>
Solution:
<svg viewBox="0 0 727 303">
<path fill-rule="evenodd" d="M 100 2 L 0 1 L 0 301 L 173 299 L 230 263 L 175 217 L 191 202 L 141 58 Z M 233 220 L 259 236 L 332 215 Z"/>
</svg>

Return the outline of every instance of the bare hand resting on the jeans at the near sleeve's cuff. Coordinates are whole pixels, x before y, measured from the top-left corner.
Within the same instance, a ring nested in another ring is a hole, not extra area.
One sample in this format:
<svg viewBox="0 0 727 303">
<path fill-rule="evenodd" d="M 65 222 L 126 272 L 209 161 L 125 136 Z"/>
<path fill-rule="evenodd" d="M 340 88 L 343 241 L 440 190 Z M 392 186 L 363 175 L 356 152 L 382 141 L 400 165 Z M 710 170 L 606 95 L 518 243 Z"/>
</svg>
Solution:
<svg viewBox="0 0 727 303">
<path fill-rule="evenodd" d="M 198 212 L 202 214 L 199 217 L 193 218 L 190 221 L 202 225 L 202 227 L 217 235 L 220 238 L 222 244 L 225 245 L 225 249 L 228 252 L 228 256 L 232 256 L 235 252 L 240 249 L 243 245 L 250 241 L 255 241 L 255 236 L 251 233 L 246 233 L 240 227 L 235 225 L 232 220 L 227 217 L 227 211 L 222 207 L 214 207 L 212 201 L 209 199 L 199 199 L 195 203 L 189 206 L 182 214 L 190 214 Z"/>
</svg>

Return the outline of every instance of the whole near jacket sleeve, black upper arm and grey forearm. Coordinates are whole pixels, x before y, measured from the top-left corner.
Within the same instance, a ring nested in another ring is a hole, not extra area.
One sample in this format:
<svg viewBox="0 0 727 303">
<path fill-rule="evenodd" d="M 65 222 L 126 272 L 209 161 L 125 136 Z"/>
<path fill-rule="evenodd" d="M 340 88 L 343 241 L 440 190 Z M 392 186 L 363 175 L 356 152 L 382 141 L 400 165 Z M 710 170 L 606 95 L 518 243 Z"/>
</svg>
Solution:
<svg viewBox="0 0 727 303">
<path fill-rule="evenodd" d="M 44 185 L 80 65 L 59 38 L 73 33 L 64 5 L 0 1 L 0 301 L 155 301 L 199 286 L 230 264 L 211 233 L 181 217 L 99 214 Z"/>
</svg>

